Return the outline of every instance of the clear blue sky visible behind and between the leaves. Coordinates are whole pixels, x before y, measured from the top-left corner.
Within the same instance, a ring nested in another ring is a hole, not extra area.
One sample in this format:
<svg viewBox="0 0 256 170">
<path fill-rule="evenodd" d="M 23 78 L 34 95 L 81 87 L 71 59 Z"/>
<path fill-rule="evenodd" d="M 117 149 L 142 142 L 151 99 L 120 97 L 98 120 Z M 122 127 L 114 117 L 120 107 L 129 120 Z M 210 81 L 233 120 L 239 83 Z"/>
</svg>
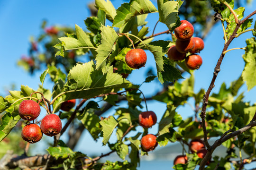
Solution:
<svg viewBox="0 0 256 170">
<path fill-rule="evenodd" d="M 71 3 L 73 2 L 73 3 Z M 75 24 L 85 29 L 84 19 L 90 16 L 90 12 L 87 8 L 87 4 L 91 0 L 0 0 L 0 94 L 6 95 L 7 92 L 4 89 L 9 89 L 11 84 L 15 84 L 17 90 L 20 85 L 28 85 L 34 89 L 37 89 L 40 84 L 39 76 L 41 72 L 36 72 L 34 75 L 29 75 L 22 68 L 17 66 L 17 60 L 21 55 L 26 55 L 29 48 L 29 37 L 37 36 L 40 34 L 40 25 L 43 19 L 48 21 L 48 26 L 57 24 L 61 26 L 72 26 Z M 118 8 L 123 2 L 122 0 L 112 1 L 115 8 Z M 156 0 L 153 1 L 155 7 Z M 256 1 L 246 7 L 245 16 L 251 13 L 256 8 Z M 148 19 L 150 18 L 150 19 Z M 147 18 L 152 33 L 156 21 L 158 20 L 158 14 L 150 14 Z M 253 24 L 255 21 L 253 22 Z M 156 26 L 155 33 L 165 31 L 167 27 L 159 23 Z M 165 38 L 168 39 L 170 35 L 162 35 L 156 39 Z M 238 39 L 234 40 L 230 48 L 245 47 L 245 39 L 252 37 L 251 33 L 241 35 Z M 170 39 L 170 38 L 169 38 Z M 214 67 L 219 59 L 219 55 L 223 49 L 223 31 L 220 23 L 216 25 L 210 34 L 205 38 L 205 48 L 201 51 L 200 55 L 203 59 L 203 64 L 199 70 L 194 72 L 195 75 L 195 91 L 198 92 L 201 88 L 207 89 L 210 85 L 210 81 L 213 75 Z M 215 88 L 213 92 L 218 92 L 222 82 L 225 82 L 228 86 L 231 81 L 236 80 L 244 67 L 244 60 L 242 59 L 243 50 L 230 51 L 226 54 L 225 59 L 221 65 L 221 71 L 215 82 Z M 147 63 L 145 68 L 135 70 L 132 75 L 128 77 L 128 80 L 136 84 L 144 81 L 144 76 L 147 68 L 152 67 L 155 70 L 155 62 L 153 54 L 147 51 Z M 43 72 L 43 70 L 42 70 Z M 184 75 L 188 77 L 188 75 Z M 51 85 L 46 85 L 51 88 Z M 157 89 L 161 89 L 160 83 L 145 84 L 141 87 L 141 90 L 146 96 L 152 95 Z M 255 103 L 256 88 L 247 92 L 247 88 L 244 85 L 240 92 L 245 91 L 245 100 Z M 124 106 L 123 104 L 122 106 Z M 148 109 L 156 112 L 158 116 L 158 122 L 165 111 L 165 104 L 160 102 L 147 102 Z M 192 110 L 188 105 L 179 108 L 179 114 L 184 118 L 192 114 Z M 110 110 L 108 114 L 113 113 Z M 141 129 L 138 129 L 141 130 Z M 157 127 L 150 129 L 150 133 L 156 133 Z M 101 147 L 101 139 L 98 143 L 94 143 L 91 136 L 85 133 L 82 140 L 79 141 L 77 150 L 83 149 L 83 144 L 89 144 L 91 147 L 86 148 L 88 152 L 104 152 L 104 148 Z M 107 147 L 106 147 L 107 149 Z"/>
</svg>

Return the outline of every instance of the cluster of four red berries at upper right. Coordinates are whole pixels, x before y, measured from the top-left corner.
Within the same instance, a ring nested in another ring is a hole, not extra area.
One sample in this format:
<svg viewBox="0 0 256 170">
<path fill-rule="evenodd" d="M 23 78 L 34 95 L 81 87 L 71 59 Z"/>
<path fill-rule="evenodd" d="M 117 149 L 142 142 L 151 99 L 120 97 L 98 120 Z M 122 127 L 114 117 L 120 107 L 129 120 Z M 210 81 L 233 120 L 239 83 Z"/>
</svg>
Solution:
<svg viewBox="0 0 256 170">
<path fill-rule="evenodd" d="M 203 50 L 204 42 L 199 37 L 192 37 L 194 27 L 187 20 L 181 21 L 181 26 L 174 29 L 174 34 L 177 38 L 175 45 L 168 50 L 168 58 L 172 60 L 183 60 L 189 69 L 198 69 L 202 64 L 200 55 L 195 54 Z M 187 52 L 191 54 L 186 57 Z"/>
</svg>

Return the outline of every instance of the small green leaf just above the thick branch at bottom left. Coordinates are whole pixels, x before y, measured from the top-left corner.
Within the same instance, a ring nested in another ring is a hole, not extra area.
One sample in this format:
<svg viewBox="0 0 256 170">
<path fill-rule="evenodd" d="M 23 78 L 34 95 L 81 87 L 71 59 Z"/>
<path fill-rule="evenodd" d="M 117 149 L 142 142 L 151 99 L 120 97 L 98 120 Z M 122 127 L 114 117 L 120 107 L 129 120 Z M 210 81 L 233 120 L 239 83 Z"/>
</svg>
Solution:
<svg viewBox="0 0 256 170">
<path fill-rule="evenodd" d="M 58 158 L 68 158 L 71 154 L 73 154 L 73 151 L 69 147 L 49 147 L 46 149 L 48 153 L 53 156 L 55 159 Z"/>
</svg>

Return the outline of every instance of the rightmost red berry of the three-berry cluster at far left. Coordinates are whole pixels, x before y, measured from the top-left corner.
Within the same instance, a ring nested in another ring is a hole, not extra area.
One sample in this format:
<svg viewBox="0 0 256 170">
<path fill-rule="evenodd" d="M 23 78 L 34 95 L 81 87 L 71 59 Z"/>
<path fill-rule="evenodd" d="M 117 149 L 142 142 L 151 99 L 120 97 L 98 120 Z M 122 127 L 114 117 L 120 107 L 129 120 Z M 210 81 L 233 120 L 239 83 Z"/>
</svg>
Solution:
<svg viewBox="0 0 256 170">
<path fill-rule="evenodd" d="M 61 128 L 61 119 L 55 114 L 48 114 L 41 121 L 41 130 L 47 136 L 55 136 L 59 134 Z"/>
</svg>

